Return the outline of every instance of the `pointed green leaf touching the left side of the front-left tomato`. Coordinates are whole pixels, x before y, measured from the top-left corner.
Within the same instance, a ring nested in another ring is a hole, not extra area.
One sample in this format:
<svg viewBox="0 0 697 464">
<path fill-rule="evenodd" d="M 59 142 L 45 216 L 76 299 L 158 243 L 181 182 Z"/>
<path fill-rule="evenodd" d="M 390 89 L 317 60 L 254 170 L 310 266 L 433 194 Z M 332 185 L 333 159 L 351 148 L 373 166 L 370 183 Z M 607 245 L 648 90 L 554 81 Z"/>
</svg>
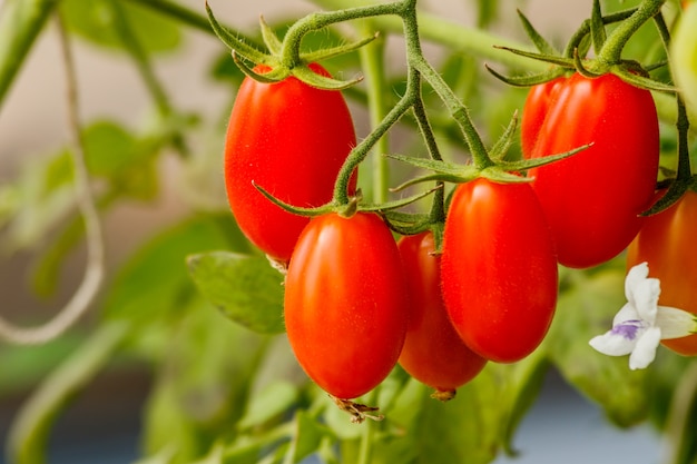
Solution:
<svg viewBox="0 0 697 464">
<path fill-rule="evenodd" d="M 261 333 L 285 332 L 283 277 L 266 258 L 214 251 L 187 258 L 200 293 L 225 316 Z"/>
</svg>

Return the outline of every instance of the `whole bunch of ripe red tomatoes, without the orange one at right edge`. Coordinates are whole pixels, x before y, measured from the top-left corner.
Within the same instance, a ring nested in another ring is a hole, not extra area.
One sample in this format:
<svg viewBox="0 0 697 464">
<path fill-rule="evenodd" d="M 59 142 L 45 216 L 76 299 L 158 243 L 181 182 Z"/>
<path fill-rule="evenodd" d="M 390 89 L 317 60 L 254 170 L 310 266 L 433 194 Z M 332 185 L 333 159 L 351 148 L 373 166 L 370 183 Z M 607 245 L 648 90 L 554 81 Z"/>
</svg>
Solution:
<svg viewBox="0 0 697 464">
<path fill-rule="evenodd" d="M 247 237 L 287 264 L 288 340 L 320 387 L 355 398 L 399 363 L 450 398 L 489 361 L 513 363 L 540 345 L 559 263 L 593 266 L 634 238 L 658 169 L 649 92 L 615 76 L 561 77 L 531 89 L 521 130 L 528 158 L 590 148 L 532 169 L 530 182 L 458 185 L 436 249 L 433 231 L 397 241 L 383 216 L 360 207 L 308 219 L 265 198 L 255 185 L 291 205 L 328 204 L 355 135 L 338 91 L 293 77 L 243 83 L 227 135 L 228 199 Z"/>
</svg>

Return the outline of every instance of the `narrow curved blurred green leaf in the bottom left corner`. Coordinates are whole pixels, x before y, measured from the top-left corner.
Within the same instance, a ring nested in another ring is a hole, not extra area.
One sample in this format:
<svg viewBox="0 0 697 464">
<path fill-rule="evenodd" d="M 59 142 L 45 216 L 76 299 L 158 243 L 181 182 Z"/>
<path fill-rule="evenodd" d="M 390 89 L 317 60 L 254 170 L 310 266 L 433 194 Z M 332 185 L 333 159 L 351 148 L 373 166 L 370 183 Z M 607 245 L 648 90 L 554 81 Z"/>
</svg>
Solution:
<svg viewBox="0 0 697 464">
<path fill-rule="evenodd" d="M 128 324 L 110 323 L 95 330 L 66 358 L 22 405 L 8 438 L 11 462 L 42 464 L 53 422 L 69 401 L 88 384 L 121 346 Z"/>
</svg>

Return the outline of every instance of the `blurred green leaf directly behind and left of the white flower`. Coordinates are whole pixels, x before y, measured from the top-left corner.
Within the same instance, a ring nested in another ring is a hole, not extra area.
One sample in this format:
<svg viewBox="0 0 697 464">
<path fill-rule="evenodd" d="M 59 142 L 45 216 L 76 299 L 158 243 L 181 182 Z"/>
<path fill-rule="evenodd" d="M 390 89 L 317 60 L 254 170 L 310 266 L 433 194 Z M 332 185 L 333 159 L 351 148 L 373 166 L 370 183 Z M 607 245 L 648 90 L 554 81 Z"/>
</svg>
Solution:
<svg viewBox="0 0 697 464">
<path fill-rule="evenodd" d="M 636 425 L 648 414 L 650 398 L 644 385 L 649 369 L 630 371 L 626 356 L 606 356 L 588 344 L 612 326 L 626 303 L 624 269 L 573 275 L 578 280 L 559 298 L 547 349 L 563 377 L 599 403 L 611 422 Z"/>
</svg>

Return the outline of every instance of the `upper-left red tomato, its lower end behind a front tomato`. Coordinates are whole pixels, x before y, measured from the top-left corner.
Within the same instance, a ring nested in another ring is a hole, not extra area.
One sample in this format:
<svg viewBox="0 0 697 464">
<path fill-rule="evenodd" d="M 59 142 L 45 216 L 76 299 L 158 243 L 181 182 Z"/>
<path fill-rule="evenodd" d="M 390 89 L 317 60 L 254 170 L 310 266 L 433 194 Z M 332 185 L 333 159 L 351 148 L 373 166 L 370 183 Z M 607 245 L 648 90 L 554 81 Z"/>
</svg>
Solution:
<svg viewBox="0 0 697 464">
<path fill-rule="evenodd" d="M 311 68 L 328 76 L 318 65 Z M 287 261 L 310 219 L 274 205 L 252 182 L 294 206 L 324 205 L 355 144 L 341 92 L 315 89 L 294 77 L 276 83 L 246 78 L 225 144 L 227 199 L 242 231 L 271 257 Z M 355 177 L 350 189 L 353 195 Z"/>
</svg>

